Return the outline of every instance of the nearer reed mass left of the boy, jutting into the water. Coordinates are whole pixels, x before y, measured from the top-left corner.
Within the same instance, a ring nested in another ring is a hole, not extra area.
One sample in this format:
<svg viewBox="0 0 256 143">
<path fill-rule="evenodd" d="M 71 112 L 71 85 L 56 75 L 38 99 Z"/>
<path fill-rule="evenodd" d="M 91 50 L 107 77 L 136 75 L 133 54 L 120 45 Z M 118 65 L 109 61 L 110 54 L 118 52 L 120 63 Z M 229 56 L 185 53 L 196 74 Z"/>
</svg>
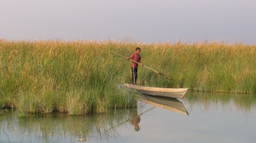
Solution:
<svg viewBox="0 0 256 143">
<path fill-rule="evenodd" d="M 109 45 L 97 42 L 0 42 L 1 107 L 29 113 L 103 113 L 136 106 L 118 85 Z"/>
</svg>

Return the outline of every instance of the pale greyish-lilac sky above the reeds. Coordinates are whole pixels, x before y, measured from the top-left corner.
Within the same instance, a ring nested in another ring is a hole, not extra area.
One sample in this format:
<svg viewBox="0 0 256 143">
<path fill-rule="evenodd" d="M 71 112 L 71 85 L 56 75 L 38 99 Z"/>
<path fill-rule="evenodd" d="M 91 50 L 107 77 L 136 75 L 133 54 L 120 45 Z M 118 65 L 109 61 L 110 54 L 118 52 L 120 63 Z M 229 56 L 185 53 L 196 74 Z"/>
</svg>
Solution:
<svg viewBox="0 0 256 143">
<path fill-rule="evenodd" d="M 255 0 L 0 0 L 0 39 L 256 43 Z"/>
</svg>

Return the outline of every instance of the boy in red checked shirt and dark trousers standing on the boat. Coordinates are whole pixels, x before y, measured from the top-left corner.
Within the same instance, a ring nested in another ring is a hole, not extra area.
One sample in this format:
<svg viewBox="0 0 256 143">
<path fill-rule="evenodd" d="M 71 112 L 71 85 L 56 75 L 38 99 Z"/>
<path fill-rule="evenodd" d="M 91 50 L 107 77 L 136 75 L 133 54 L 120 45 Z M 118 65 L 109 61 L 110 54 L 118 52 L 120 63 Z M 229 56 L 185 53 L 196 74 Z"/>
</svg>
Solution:
<svg viewBox="0 0 256 143">
<path fill-rule="evenodd" d="M 127 58 L 127 60 L 132 59 L 133 61 L 140 63 L 140 60 L 141 60 L 140 51 L 141 51 L 140 47 L 136 47 L 135 53 L 131 54 L 130 58 Z M 131 61 L 131 84 L 137 85 L 138 64 L 133 61 Z"/>
</svg>

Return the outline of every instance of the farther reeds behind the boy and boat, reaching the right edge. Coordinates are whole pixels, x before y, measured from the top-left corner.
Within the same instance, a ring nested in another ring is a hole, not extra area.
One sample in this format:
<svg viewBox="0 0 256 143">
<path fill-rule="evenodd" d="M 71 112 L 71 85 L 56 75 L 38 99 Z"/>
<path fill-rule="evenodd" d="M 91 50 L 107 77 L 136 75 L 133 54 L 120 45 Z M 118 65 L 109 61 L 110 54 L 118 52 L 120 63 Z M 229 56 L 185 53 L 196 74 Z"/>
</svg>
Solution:
<svg viewBox="0 0 256 143">
<path fill-rule="evenodd" d="M 142 48 L 144 65 L 172 78 L 168 80 L 139 67 L 140 83 L 158 87 L 189 87 L 194 91 L 256 93 L 256 45 L 176 42 L 138 43 L 134 46 Z M 130 56 L 134 46 L 113 49 Z M 124 62 L 119 60 L 119 64 Z M 129 62 L 125 64 L 125 67 L 129 66 Z M 127 74 L 130 74 L 129 70 Z"/>
</svg>

